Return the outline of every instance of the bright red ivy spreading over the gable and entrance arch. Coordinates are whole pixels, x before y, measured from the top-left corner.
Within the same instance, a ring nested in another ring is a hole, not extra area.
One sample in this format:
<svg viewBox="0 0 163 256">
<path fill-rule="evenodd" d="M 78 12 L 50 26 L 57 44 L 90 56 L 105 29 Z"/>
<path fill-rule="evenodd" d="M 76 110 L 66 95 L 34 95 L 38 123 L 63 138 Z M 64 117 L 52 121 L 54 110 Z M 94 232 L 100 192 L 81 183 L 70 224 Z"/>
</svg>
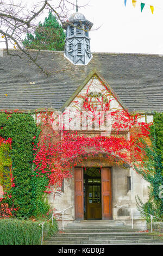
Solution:
<svg viewBox="0 0 163 256">
<path fill-rule="evenodd" d="M 130 166 L 133 161 L 143 162 L 145 160 L 146 156 L 141 155 L 140 148 L 143 144 L 140 138 L 149 137 L 151 124 L 139 122 L 140 115 L 130 115 L 123 108 L 111 110 L 112 98 L 109 91 L 105 94 L 88 94 L 89 88 L 85 95 L 78 96 L 79 101 L 73 101 L 76 112 L 79 115 L 82 115 L 83 110 L 89 112 L 91 120 L 96 121 L 97 111 L 99 115 L 101 109 L 103 112 L 110 111 L 111 129 L 115 131 L 115 134 L 88 137 L 81 131 L 66 131 L 63 124 L 58 126 L 58 131 L 53 131 L 53 122 L 58 120 L 53 112 L 45 111 L 37 114 L 42 132 L 40 142 L 34 145 L 34 163 L 36 176 L 46 173 L 49 179 L 47 193 L 51 192 L 52 186 L 61 186 L 62 179 L 71 178 L 72 168 L 82 166 L 83 159 L 86 160 L 90 155 L 96 156 L 97 153 L 104 153 L 112 164 L 128 163 Z M 81 99 L 83 100 L 82 108 L 80 107 Z M 66 111 L 62 113 L 62 117 L 64 115 Z M 70 118 L 69 121 L 71 120 Z M 119 136 L 123 131 L 130 132 L 130 136 Z"/>
</svg>

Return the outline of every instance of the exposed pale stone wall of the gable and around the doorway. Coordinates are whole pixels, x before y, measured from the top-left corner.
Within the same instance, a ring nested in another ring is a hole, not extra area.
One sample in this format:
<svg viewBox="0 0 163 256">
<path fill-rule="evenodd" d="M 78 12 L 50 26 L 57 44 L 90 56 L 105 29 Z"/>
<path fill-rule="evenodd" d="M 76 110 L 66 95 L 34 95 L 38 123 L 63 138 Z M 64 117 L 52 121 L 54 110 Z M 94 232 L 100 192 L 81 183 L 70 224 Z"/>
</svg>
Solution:
<svg viewBox="0 0 163 256">
<path fill-rule="evenodd" d="M 98 78 L 93 77 L 85 87 L 78 92 L 78 96 L 76 96 L 70 105 L 65 110 L 65 119 L 69 122 L 68 115 L 70 112 L 76 112 L 77 106 L 76 101 L 79 103 L 78 108 L 83 105 L 83 97 L 81 95 L 86 95 L 89 91 L 92 93 L 106 93 L 106 89 L 98 80 Z M 115 111 L 116 109 L 122 109 L 120 102 L 115 99 L 112 94 L 107 95 L 108 100 L 110 100 L 110 109 L 111 111 Z M 68 110 L 68 111 L 67 111 Z M 73 119 L 74 123 L 79 123 L 75 118 Z M 76 122 L 75 122 L 76 121 Z M 142 115 L 140 117 L 140 122 L 150 123 L 153 121 L 152 115 Z M 72 124 L 71 129 L 73 130 L 74 123 Z M 80 123 L 79 123 L 80 124 Z M 69 125 L 69 123 L 68 123 Z M 80 126 L 80 125 L 79 125 Z M 69 127 L 69 126 L 68 126 Z M 77 127 L 75 128 L 77 129 Z M 90 129 L 92 131 L 92 129 Z M 100 131 L 100 130 L 98 130 Z M 111 131 L 110 131 L 111 132 Z M 125 135 L 129 138 L 129 131 L 121 131 L 123 132 L 123 136 Z M 82 131 L 83 134 L 83 131 Z M 93 133 L 92 133 L 93 135 Z M 141 220 L 140 214 L 136 209 L 135 196 L 138 195 L 142 202 L 146 202 L 148 200 L 148 183 L 143 180 L 143 178 L 137 174 L 131 168 L 124 169 L 122 166 L 112 166 L 111 163 L 103 156 L 103 154 L 98 154 L 98 157 L 89 157 L 85 161 L 83 160 L 82 166 L 84 167 L 110 167 L 112 170 L 112 218 L 113 220 L 121 220 L 124 222 L 129 222 L 131 220 L 131 211 L 133 210 L 134 219 L 139 222 Z M 131 190 L 128 190 L 128 177 L 131 177 Z M 69 180 L 65 180 L 64 184 L 64 193 L 61 193 L 61 196 L 56 196 L 53 202 L 52 196 L 49 198 L 53 207 L 56 209 L 56 212 L 59 212 L 63 209 L 66 209 L 73 205 L 73 208 L 68 209 L 65 212 L 65 220 L 73 221 L 74 220 L 74 175 L 72 173 L 72 177 Z M 120 208 L 118 206 L 123 206 L 125 208 Z M 129 209 L 126 209 L 129 208 Z"/>
</svg>

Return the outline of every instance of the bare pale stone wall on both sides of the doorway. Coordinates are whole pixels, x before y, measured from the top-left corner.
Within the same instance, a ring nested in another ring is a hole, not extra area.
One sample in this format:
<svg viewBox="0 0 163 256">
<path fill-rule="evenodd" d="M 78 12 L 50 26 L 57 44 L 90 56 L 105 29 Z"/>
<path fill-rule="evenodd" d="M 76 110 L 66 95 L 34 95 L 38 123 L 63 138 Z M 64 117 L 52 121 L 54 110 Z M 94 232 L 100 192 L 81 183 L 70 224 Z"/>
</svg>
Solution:
<svg viewBox="0 0 163 256">
<path fill-rule="evenodd" d="M 95 161 L 97 163 L 97 161 Z M 94 164 L 95 164 L 94 162 Z M 87 160 L 89 166 L 91 162 Z M 93 162 L 92 162 L 93 163 Z M 104 163 L 103 163 L 104 164 Z M 105 163 L 106 165 L 106 163 Z M 93 164 L 92 164 L 93 166 Z M 108 163 L 109 166 L 109 163 Z M 142 220 L 140 213 L 136 209 L 135 196 L 138 195 L 142 202 L 148 200 L 148 183 L 137 174 L 133 169 L 124 169 L 122 166 L 111 167 L 112 171 L 112 219 L 124 221 L 126 224 L 131 224 L 131 211 L 133 210 L 134 220 L 140 222 Z M 128 176 L 131 176 L 131 190 L 128 190 Z M 64 192 L 61 196 L 49 197 L 50 202 L 59 212 L 73 205 L 73 208 L 65 212 L 65 221 L 74 221 L 74 175 L 72 178 L 64 181 Z M 119 208 L 123 206 L 125 208 Z M 129 209 L 126 209 L 129 208 Z M 58 216 L 61 220 L 61 215 Z M 142 225 L 142 222 L 140 223 Z"/>
</svg>

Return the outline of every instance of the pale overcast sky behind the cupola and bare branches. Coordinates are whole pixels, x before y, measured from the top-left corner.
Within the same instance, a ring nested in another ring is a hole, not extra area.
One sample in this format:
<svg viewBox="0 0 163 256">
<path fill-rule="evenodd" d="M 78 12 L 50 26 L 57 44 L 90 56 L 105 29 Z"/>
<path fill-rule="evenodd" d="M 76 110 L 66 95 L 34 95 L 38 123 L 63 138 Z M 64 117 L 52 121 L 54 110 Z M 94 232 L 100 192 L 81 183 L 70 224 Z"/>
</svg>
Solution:
<svg viewBox="0 0 163 256">
<path fill-rule="evenodd" d="M 163 54 L 162 0 L 142 0 L 146 3 L 142 13 L 141 1 L 137 1 L 134 8 L 132 0 L 127 0 L 126 7 L 124 0 L 78 0 L 79 5 L 87 2 L 89 5 L 80 8 L 79 12 L 94 23 L 92 29 L 95 30 L 90 32 L 92 52 Z M 149 5 L 154 6 L 154 14 L 151 13 Z M 70 15 L 72 13 L 73 10 L 70 11 Z M 44 17 L 40 19 L 43 22 Z M 0 47 L 4 46 L 0 44 Z"/>
</svg>

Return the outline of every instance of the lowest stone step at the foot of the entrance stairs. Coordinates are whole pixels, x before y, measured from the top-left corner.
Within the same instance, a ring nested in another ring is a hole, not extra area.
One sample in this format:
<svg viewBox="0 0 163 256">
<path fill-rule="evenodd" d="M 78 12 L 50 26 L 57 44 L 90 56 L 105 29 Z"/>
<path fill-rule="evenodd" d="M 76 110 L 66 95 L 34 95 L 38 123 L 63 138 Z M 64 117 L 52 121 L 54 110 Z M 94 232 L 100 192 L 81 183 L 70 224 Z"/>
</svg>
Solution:
<svg viewBox="0 0 163 256">
<path fill-rule="evenodd" d="M 163 241 L 161 240 L 145 240 L 145 239 L 141 239 L 141 240 L 89 240 L 89 241 L 47 241 L 45 242 L 45 245 L 109 245 L 109 244 L 114 244 L 114 245 L 129 245 L 129 244 L 135 244 L 135 243 L 139 243 L 139 244 L 162 244 L 163 245 Z"/>
</svg>

